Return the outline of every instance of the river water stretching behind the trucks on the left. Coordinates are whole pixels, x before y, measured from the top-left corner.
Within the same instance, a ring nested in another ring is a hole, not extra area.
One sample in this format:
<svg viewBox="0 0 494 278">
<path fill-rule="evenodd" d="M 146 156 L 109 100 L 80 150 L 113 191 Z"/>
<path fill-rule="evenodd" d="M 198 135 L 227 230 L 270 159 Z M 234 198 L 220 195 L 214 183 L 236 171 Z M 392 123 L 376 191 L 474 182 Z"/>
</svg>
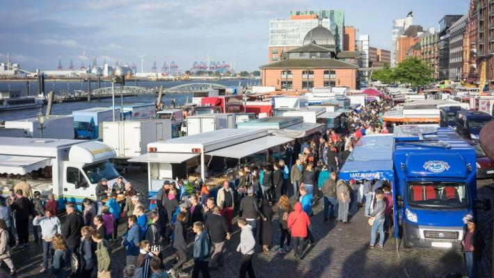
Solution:
<svg viewBox="0 0 494 278">
<path fill-rule="evenodd" d="M 171 88 L 177 85 L 182 85 L 186 83 L 218 83 L 222 85 L 228 86 L 236 86 L 236 85 L 248 85 L 253 83 L 258 83 L 259 80 L 216 80 L 216 81 L 138 81 L 137 85 L 145 88 L 159 88 L 160 85 L 163 85 L 164 88 Z M 127 85 L 135 85 L 134 81 L 129 81 L 126 83 Z M 91 88 L 95 88 L 97 83 L 91 83 Z M 101 87 L 111 86 L 110 82 L 102 82 Z M 26 95 L 26 82 L 0 82 L 0 91 L 8 91 L 8 90 L 20 90 L 21 95 Z M 87 90 L 87 83 L 80 82 L 60 82 L 60 81 L 45 81 L 45 91 L 49 92 L 53 90 L 56 95 L 61 94 L 61 92 L 67 92 L 67 88 L 70 92 L 74 90 Z M 30 95 L 38 94 L 38 83 L 35 81 L 29 82 L 29 91 Z M 175 99 L 177 105 L 184 104 L 186 101 L 186 97 L 190 96 L 190 94 L 182 93 L 182 94 L 169 94 L 164 95 L 162 101 L 165 106 L 171 105 L 171 100 Z M 156 97 L 154 95 L 139 95 L 137 97 L 124 97 L 123 102 L 124 105 L 136 104 L 136 103 L 154 103 L 156 101 Z M 115 106 L 120 107 L 120 97 L 115 94 Z M 72 111 L 77 111 L 86 108 L 93 107 L 111 107 L 111 98 L 110 99 L 102 99 L 100 101 L 93 100 L 90 102 L 87 101 L 79 101 L 79 102 L 68 102 L 63 104 L 53 104 L 51 108 L 51 115 L 70 115 Z M 8 120 L 21 120 L 26 119 L 28 117 L 35 117 L 40 108 L 31 108 L 31 109 L 22 109 L 17 111 L 0 111 L 0 122 L 8 121 Z M 46 106 L 43 106 L 42 110 L 45 111 Z"/>
</svg>

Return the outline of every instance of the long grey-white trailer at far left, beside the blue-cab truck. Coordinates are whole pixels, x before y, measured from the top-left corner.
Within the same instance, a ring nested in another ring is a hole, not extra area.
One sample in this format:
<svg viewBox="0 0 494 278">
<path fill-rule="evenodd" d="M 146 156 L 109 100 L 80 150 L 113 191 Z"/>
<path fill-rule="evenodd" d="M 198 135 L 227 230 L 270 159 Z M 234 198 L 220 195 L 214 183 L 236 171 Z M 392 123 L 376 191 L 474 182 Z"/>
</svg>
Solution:
<svg viewBox="0 0 494 278">
<path fill-rule="evenodd" d="M 72 116 L 47 116 L 42 126 L 42 132 L 40 126 L 40 122 L 35 117 L 5 122 L 7 129 L 24 129 L 26 131 L 24 137 L 74 139 L 74 117 Z"/>
</svg>

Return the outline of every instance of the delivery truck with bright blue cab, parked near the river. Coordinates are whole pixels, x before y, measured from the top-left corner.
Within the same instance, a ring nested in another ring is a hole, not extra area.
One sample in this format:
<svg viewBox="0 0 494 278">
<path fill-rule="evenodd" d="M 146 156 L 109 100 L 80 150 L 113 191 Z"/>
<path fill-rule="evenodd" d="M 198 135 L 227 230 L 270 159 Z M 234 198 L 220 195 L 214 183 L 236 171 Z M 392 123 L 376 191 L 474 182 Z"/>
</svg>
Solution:
<svg viewBox="0 0 494 278">
<path fill-rule="evenodd" d="M 102 122 L 113 121 L 113 113 L 115 113 L 115 121 L 120 120 L 120 108 L 88 108 L 79 111 L 73 111 L 74 116 L 74 133 L 76 139 L 97 139 L 102 135 Z"/>
</svg>

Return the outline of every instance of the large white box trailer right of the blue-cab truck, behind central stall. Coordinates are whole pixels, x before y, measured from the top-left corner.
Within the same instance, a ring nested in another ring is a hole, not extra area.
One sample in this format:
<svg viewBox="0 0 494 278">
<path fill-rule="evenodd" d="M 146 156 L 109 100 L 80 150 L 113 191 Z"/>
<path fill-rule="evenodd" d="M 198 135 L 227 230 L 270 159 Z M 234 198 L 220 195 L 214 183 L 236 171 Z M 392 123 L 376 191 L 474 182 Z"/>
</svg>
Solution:
<svg viewBox="0 0 494 278">
<path fill-rule="evenodd" d="M 115 150 L 117 158 L 145 154 L 150 142 L 171 139 L 171 120 L 103 122 L 103 142 Z"/>
</svg>

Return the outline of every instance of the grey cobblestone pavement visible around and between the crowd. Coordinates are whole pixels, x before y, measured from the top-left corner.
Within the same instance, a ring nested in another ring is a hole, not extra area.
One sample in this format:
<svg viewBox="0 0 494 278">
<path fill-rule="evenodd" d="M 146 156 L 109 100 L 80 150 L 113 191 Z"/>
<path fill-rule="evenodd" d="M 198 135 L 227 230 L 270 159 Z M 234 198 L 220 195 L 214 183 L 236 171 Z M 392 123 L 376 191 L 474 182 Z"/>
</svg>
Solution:
<svg viewBox="0 0 494 278">
<path fill-rule="evenodd" d="M 130 174 L 128 174 L 131 177 Z M 141 193 L 147 193 L 147 174 L 132 173 L 131 180 Z M 494 204 L 494 184 L 492 180 L 479 181 L 479 197 L 490 198 Z M 488 186 L 490 184 L 490 186 Z M 297 261 L 293 252 L 277 254 L 279 231 L 278 220 L 273 222 L 273 247 L 270 252 L 257 252 L 253 259 L 256 277 L 444 277 L 451 272 L 465 272 L 463 256 L 459 252 L 443 250 L 404 249 L 403 244 L 396 251 L 394 239 L 385 241 L 383 250 L 367 250 L 370 227 L 367 218 L 357 209 L 350 224 L 336 224 L 335 221 L 323 221 L 322 202 L 314 206 L 312 231 L 317 240 L 314 246 L 306 247 L 305 257 Z M 479 223 L 482 234 L 486 238 L 486 250 L 479 277 L 491 277 L 492 262 L 492 211 L 479 211 Z M 63 221 L 63 218 L 62 218 Z M 125 230 L 119 227 L 119 234 Z M 32 233 L 31 233 L 32 234 Z M 31 236 L 32 239 L 32 236 Z M 191 242 L 193 235 L 189 234 L 189 254 L 192 252 Z M 225 265 L 219 270 L 212 270 L 212 277 L 238 277 L 240 256 L 234 250 L 239 243 L 239 231 L 234 228 L 232 239 L 227 244 Z M 164 263 L 170 268 L 174 250 L 166 247 Z M 125 254 L 118 243 L 113 243 L 112 277 L 122 277 Z M 15 250 L 13 258 L 19 269 L 18 277 L 51 277 L 49 274 L 40 275 L 42 261 L 41 243 L 31 243 L 29 247 Z M 191 272 L 192 260 L 184 266 L 184 270 Z M 3 265 L 6 268 L 6 265 Z"/>
</svg>

